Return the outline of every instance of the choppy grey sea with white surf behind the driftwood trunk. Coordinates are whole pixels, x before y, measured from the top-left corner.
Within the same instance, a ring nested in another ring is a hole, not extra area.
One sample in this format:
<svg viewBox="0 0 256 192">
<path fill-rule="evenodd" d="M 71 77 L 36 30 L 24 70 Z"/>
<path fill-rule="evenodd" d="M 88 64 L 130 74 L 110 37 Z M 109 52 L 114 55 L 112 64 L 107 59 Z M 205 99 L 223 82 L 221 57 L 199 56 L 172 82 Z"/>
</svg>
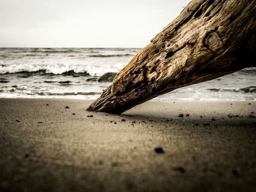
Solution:
<svg viewBox="0 0 256 192">
<path fill-rule="evenodd" d="M 0 48 L 0 98 L 97 99 L 140 48 Z M 256 68 L 178 88 L 154 101 L 255 101 Z"/>
</svg>

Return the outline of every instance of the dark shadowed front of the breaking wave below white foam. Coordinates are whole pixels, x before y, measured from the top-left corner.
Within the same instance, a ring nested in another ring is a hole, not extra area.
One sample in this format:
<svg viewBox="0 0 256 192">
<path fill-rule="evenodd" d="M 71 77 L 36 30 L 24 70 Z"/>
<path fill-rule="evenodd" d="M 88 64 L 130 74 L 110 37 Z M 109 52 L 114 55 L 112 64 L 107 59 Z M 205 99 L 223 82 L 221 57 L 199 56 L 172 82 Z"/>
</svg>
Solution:
<svg viewBox="0 0 256 192">
<path fill-rule="evenodd" d="M 74 70 L 69 70 L 67 72 L 62 72 L 61 74 L 54 74 L 52 72 L 48 72 L 46 69 L 39 69 L 37 71 L 32 71 L 32 72 L 28 72 L 28 71 L 20 71 L 20 72 L 6 72 L 4 74 L 17 74 L 18 76 L 21 77 L 31 77 L 31 76 L 35 76 L 35 75 L 48 75 L 48 76 L 53 76 L 53 75 L 64 75 L 64 76 L 72 76 L 72 77 L 80 77 L 80 76 L 90 76 L 90 74 L 88 72 L 75 72 Z"/>
</svg>

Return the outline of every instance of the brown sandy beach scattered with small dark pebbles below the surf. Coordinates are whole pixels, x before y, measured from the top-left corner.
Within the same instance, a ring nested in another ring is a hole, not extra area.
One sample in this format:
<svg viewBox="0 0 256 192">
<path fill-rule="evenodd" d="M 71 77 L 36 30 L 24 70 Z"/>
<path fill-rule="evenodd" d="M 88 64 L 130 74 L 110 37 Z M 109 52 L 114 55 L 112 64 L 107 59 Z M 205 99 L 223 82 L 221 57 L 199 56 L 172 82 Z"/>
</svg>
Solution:
<svg viewBox="0 0 256 192">
<path fill-rule="evenodd" d="M 90 103 L 0 99 L 0 191 L 255 191 L 256 102 Z"/>
</svg>

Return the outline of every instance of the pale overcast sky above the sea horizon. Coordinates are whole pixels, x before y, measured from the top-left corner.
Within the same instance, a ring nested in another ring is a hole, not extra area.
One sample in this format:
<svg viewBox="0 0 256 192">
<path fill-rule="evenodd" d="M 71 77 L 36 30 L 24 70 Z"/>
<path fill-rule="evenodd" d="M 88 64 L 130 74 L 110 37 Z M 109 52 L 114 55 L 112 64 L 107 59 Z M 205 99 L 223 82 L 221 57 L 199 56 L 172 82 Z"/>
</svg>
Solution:
<svg viewBox="0 0 256 192">
<path fill-rule="evenodd" d="M 189 0 L 0 0 L 0 47 L 145 47 Z"/>
</svg>

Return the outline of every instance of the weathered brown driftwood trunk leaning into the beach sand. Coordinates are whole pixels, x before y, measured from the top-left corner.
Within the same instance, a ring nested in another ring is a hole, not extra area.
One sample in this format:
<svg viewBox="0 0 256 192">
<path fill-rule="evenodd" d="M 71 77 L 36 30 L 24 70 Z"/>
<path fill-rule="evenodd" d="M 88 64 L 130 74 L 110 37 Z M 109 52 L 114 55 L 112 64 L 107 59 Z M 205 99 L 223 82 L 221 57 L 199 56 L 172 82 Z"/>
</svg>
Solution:
<svg viewBox="0 0 256 192">
<path fill-rule="evenodd" d="M 256 0 L 193 0 L 87 109 L 121 113 L 163 93 L 256 66 Z"/>
</svg>

